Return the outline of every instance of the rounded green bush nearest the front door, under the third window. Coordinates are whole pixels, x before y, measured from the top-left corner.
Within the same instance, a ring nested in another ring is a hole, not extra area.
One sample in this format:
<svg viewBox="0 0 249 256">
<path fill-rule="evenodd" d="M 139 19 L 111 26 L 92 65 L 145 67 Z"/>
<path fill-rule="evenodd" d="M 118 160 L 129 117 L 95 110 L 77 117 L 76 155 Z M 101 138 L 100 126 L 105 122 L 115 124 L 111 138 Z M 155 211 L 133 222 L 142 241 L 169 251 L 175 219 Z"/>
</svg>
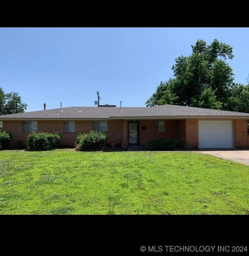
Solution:
<svg viewBox="0 0 249 256">
<path fill-rule="evenodd" d="M 81 151 L 99 151 L 105 147 L 107 137 L 102 132 L 89 132 L 76 137 L 75 148 Z"/>
</svg>

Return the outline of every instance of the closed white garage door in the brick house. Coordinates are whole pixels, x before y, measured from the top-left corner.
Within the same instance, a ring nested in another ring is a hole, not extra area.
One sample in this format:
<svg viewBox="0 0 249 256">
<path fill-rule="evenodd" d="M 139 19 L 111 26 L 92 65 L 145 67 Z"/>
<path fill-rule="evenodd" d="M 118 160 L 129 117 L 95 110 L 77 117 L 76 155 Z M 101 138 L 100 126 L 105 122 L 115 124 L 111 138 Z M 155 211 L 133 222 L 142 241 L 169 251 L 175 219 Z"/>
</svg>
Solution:
<svg viewBox="0 0 249 256">
<path fill-rule="evenodd" d="M 199 148 L 233 148 L 232 121 L 198 121 Z"/>
</svg>

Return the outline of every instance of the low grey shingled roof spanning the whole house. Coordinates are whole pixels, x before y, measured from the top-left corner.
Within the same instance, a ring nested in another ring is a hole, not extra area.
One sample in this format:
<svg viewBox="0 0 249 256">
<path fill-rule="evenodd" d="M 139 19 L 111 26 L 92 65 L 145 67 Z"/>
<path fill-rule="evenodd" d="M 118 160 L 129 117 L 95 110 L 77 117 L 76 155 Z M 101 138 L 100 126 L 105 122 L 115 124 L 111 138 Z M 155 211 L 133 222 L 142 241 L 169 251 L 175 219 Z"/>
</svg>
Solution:
<svg viewBox="0 0 249 256">
<path fill-rule="evenodd" d="M 0 116 L 4 120 L 109 120 L 109 119 L 181 119 L 246 118 L 249 113 L 209 108 L 161 105 L 156 107 L 67 107 Z"/>
</svg>

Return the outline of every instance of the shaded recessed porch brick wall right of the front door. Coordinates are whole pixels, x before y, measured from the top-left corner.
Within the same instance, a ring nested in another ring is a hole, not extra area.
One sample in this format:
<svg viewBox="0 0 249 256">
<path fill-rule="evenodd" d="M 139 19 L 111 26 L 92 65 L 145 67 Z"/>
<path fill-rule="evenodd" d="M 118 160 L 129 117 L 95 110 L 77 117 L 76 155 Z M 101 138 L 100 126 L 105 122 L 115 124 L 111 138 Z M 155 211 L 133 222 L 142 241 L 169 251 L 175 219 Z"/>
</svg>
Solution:
<svg viewBox="0 0 249 256">
<path fill-rule="evenodd" d="M 149 140 L 158 138 L 175 138 L 176 120 L 158 120 L 164 121 L 165 132 L 155 132 L 154 120 L 140 120 L 139 122 L 139 139 L 140 145 L 147 145 Z M 142 125 L 146 126 L 146 130 L 142 130 Z M 129 137 L 127 137 L 129 138 Z"/>
</svg>

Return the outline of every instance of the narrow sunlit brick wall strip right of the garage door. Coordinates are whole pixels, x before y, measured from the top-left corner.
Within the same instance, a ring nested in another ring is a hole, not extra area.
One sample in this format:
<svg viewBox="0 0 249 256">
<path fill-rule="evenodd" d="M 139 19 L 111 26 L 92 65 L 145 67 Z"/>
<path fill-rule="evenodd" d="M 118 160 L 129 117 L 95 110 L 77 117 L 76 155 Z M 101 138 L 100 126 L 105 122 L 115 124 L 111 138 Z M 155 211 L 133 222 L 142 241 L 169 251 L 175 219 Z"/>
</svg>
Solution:
<svg viewBox="0 0 249 256">
<path fill-rule="evenodd" d="M 235 148 L 248 147 L 247 119 L 235 119 Z"/>
</svg>

